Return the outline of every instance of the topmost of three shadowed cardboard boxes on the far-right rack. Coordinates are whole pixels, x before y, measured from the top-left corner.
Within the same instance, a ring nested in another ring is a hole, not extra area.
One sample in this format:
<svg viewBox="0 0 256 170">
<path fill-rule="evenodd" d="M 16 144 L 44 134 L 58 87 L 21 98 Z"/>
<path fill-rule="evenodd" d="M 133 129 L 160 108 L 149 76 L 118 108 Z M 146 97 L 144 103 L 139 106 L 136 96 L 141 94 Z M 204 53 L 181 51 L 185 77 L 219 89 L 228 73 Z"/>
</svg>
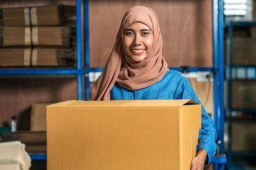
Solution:
<svg viewBox="0 0 256 170">
<path fill-rule="evenodd" d="M 229 64 L 229 39 L 227 39 L 226 63 Z M 232 64 L 238 66 L 256 65 L 256 38 L 233 37 Z"/>
</svg>

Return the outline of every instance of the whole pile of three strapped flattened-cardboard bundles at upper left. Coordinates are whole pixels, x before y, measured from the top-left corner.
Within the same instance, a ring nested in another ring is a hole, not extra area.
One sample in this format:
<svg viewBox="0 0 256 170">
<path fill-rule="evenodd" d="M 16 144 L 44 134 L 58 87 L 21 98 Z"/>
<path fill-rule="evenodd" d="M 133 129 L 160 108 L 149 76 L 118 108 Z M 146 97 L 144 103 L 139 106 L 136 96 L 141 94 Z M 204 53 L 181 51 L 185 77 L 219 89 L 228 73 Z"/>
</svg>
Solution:
<svg viewBox="0 0 256 170">
<path fill-rule="evenodd" d="M 0 67 L 75 66 L 74 6 L 0 10 Z"/>
</svg>

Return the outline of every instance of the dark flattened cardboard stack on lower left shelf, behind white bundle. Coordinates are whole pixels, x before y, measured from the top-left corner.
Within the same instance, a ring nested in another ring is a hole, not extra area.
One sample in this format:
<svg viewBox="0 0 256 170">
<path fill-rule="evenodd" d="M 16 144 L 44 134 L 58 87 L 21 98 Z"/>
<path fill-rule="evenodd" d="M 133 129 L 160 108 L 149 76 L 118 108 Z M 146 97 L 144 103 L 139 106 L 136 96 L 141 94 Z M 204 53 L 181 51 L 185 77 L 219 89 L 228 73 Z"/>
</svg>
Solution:
<svg viewBox="0 0 256 170">
<path fill-rule="evenodd" d="M 21 141 L 28 153 L 46 153 L 46 132 L 3 132 L 2 141 Z"/>
</svg>

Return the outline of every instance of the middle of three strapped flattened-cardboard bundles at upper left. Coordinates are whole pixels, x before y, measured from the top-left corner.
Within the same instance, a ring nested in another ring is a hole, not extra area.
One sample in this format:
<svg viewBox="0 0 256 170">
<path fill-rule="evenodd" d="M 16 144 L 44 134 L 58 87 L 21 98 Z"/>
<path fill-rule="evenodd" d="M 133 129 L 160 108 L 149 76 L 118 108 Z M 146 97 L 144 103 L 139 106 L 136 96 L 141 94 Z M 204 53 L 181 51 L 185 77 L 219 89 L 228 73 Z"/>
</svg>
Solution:
<svg viewBox="0 0 256 170">
<path fill-rule="evenodd" d="M 32 29 L 32 30 L 31 30 Z M 0 46 L 70 46 L 70 27 L 3 27 Z M 32 32 L 32 35 L 31 35 Z"/>
</svg>

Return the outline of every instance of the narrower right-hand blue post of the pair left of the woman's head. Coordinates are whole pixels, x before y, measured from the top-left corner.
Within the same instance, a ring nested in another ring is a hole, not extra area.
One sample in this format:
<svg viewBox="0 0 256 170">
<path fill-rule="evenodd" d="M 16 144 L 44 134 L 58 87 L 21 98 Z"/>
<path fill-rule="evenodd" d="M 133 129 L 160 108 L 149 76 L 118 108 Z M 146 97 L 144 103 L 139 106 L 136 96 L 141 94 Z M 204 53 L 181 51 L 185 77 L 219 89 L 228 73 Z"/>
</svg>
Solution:
<svg viewBox="0 0 256 170">
<path fill-rule="evenodd" d="M 89 39 L 89 1 L 84 0 L 84 66 L 90 67 L 90 39 Z M 89 100 L 90 81 L 89 73 L 85 74 L 85 99 Z"/>
</svg>

